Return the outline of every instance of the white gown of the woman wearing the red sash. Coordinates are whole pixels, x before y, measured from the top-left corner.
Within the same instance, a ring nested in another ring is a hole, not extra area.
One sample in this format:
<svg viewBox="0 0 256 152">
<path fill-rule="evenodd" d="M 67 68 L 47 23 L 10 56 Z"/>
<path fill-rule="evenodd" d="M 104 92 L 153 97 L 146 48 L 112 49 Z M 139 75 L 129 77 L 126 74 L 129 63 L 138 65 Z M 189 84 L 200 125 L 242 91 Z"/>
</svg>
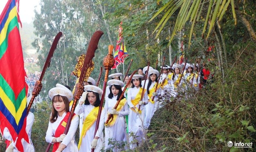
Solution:
<svg viewBox="0 0 256 152">
<path fill-rule="evenodd" d="M 56 129 L 58 128 L 60 122 L 64 119 L 64 117 L 66 115 L 67 115 L 67 112 L 64 112 L 61 117 L 58 116 L 57 120 L 54 123 L 51 123 L 49 121 L 48 129 L 47 129 L 46 136 L 45 136 L 46 142 L 52 143 L 53 138 L 55 138 L 55 137 L 53 137 L 53 135 L 55 134 Z M 79 123 L 79 118 L 76 115 L 73 117 L 73 119 L 71 121 L 71 124 L 70 124 L 70 127 L 69 127 L 66 137 L 64 137 L 63 141 L 61 142 L 61 144 L 64 144 L 67 146 L 63 150 L 63 152 L 69 152 L 69 151 L 78 152 L 77 144 L 75 141 L 75 134 L 76 134 L 76 129 L 77 129 L 78 123 Z M 70 138 L 70 137 L 72 137 L 72 138 Z M 52 144 L 54 144 L 54 143 L 52 143 Z"/>
</svg>

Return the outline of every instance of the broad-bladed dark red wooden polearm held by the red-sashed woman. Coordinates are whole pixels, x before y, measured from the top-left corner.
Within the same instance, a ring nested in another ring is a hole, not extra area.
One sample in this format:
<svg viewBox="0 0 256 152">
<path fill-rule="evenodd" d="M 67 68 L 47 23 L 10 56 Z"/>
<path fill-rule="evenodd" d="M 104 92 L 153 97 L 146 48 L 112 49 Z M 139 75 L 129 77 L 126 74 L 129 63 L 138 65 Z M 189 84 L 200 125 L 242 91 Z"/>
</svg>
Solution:
<svg viewBox="0 0 256 152">
<path fill-rule="evenodd" d="M 86 72 L 88 70 L 89 67 L 92 67 L 92 58 L 94 57 L 94 53 L 95 51 L 98 49 L 98 43 L 100 40 L 100 37 L 103 35 L 102 31 L 96 31 L 93 35 L 92 38 L 90 40 L 90 43 L 88 45 L 88 49 L 85 55 L 85 59 L 84 59 L 84 63 L 83 63 L 83 67 L 81 70 L 81 75 L 79 77 L 79 81 L 76 84 L 76 89 L 75 89 L 75 93 L 74 93 L 74 102 L 68 117 L 68 122 L 64 131 L 64 134 L 68 133 L 70 124 L 71 124 L 71 119 L 73 118 L 74 115 L 74 111 L 75 111 L 75 107 L 76 107 L 76 102 L 77 100 L 80 99 L 80 97 L 82 96 L 83 92 L 84 92 L 84 86 L 83 86 L 83 82 L 84 82 L 84 78 L 86 76 Z M 89 77 L 89 76 L 86 76 Z M 49 151 L 49 149 L 51 148 L 51 143 L 49 143 L 46 152 Z"/>
</svg>

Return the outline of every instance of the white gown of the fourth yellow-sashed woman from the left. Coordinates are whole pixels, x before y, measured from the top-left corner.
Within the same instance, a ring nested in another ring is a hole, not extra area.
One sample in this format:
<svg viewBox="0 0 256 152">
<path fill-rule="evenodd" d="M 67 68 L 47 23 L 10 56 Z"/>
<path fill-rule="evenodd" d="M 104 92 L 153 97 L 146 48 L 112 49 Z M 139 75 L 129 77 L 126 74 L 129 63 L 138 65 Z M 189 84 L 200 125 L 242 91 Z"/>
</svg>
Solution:
<svg viewBox="0 0 256 152">
<path fill-rule="evenodd" d="M 153 82 L 153 83 L 151 83 L 151 85 L 149 86 L 149 90 L 150 90 L 151 88 L 153 88 L 154 85 L 156 85 L 156 81 Z M 146 84 L 145 88 L 147 88 L 147 87 L 148 87 L 148 83 Z M 161 91 L 160 91 L 159 89 L 156 90 L 156 92 L 157 92 L 157 95 L 158 95 L 158 94 L 161 94 Z M 147 95 L 148 95 L 148 94 L 147 94 Z M 150 98 L 150 97 L 148 96 L 148 99 L 149 99 L 149 98 Z M 148 128 L 148 126 L 149 126 L 149 124 L 150 124 L 151 118 L 153 117 L 155 111 L 159 108 L 159 107 L 158 107 L 158 101 L 157 101 L 157 99 L 158 99 L 158 97 L 155 96 L 155 98 L 154 98 L 154 101 L 155 101 L 154 104 L 152 104 L 151 102 L 148 102 L 148 104 L 145 106 L 145 108 L 146 108 L 146 117 L 145 117 L 145 120 L 144 120 L 144 127 L 145 127 L 145 128 Z"/>
</svg>

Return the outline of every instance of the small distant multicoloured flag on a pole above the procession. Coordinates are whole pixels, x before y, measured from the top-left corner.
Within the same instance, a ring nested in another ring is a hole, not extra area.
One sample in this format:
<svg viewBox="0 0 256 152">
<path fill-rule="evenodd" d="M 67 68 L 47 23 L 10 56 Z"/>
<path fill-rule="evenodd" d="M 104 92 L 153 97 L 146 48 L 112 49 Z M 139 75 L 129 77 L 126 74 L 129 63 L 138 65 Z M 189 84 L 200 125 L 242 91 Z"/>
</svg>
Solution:
<svg viewBox="0 0 256 152">
<path fill-rule="evenodd" d="M 128 56 L 128 52 L 125 48 L 124 45 L 124 38 L 122 36 L 122 22 L 119 25 L 119 29 L 118 29 L 118 38 L 117 38 L 117 42 L 116 42 L 116 51 L 115 51 L 115 55 L 114 55 L 114 66 L 111 69 L 117 68 L 117 66 L 121 63 L 124 63 L 124 58 Z"/>
</svg>

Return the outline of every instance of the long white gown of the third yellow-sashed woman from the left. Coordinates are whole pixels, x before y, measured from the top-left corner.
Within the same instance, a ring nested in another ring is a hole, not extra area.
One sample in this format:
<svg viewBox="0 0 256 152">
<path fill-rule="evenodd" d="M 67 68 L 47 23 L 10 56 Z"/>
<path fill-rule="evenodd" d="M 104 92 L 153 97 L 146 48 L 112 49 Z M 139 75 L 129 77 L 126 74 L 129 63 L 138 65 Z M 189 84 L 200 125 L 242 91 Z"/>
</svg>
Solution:
<svg viewBox="0 0 256 152">
<path fill-rule="evenodd" d="M 141 144 L 142 140 L 144 138 L 144 118 L 145 118 L 145 109 L 144 105 L 140 106 L 141 114 L 137 114 L 132 111 L 132 107 L 134 105 L 132 104 L 133 99 L 135 99 L 136 95 L 140 91 L 140 87 L 133 87 L 130 88 L 127 92 L 127 103 L 130 106 L 129 108 L 129 118 L 128 118 L 128 129 L 129 129 L 129 142 L 130 142 L 130 148 L 136 148 L 136 141 Z M 148 104 L 148 95 L 147 91 L 145 91 L 143 99 L 142 99 L 146 104 Z M 135 107 L 139 108 L 139 104 L 135 105 Z M 135 136 L 131 136 L 131 135 Z"/>
</svg>

